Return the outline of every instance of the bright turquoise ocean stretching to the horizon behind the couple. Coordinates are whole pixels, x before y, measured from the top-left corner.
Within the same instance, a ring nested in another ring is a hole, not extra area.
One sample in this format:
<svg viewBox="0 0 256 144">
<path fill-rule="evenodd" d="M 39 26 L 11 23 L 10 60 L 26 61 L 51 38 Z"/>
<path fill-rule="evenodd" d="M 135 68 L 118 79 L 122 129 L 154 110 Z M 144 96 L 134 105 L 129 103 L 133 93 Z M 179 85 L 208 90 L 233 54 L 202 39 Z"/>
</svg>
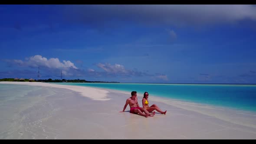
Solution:
<svg viewBox="0 0 256 144">
<path fill-rule="evenodd" d="M 54 84 L 54 83 L 52 83 Z M 160 83 L 56 83 L 107 88 L 125 92 L 137 91 L 179 101 L 256 112 L 256 85 L 244 84 L 160 84 Z"/>
</svg>

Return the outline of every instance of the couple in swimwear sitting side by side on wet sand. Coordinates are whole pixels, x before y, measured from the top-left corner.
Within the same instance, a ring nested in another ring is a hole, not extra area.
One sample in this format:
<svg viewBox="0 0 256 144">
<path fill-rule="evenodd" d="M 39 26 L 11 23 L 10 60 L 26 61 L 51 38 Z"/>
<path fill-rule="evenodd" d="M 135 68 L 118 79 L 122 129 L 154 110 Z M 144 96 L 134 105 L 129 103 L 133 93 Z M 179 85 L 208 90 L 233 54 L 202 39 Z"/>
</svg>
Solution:
<svg viewBox="0 0 256 144">
<path fill-rule="evenodd" d="M 124 112 L 125 108 L 127 107 L 128 104 L 131 108 L 130 113 L 139 114 L 139 115 L 144 116 L 146 118 L 148 118 L 149 116 L 153 117 L 155 115 L 154 110 L 160 112 L 161 114 L 164 114 L 164 115 L 166 114 L 166 111 L 162 111 L 155 104 L 151 105 L 150 107 L 148 106 L 148 92 L 144 92 L 144 97 L 142 99 L 143 108 L 141 108 L 138 104 L 137 92 L 132 91 L 131 92 L 131 97 L 126 100 L 123 111 L 120 111 L 120 112 Z M 152 111 L 153 111 L 153 113 L 150 113 Z"/>
</svg>

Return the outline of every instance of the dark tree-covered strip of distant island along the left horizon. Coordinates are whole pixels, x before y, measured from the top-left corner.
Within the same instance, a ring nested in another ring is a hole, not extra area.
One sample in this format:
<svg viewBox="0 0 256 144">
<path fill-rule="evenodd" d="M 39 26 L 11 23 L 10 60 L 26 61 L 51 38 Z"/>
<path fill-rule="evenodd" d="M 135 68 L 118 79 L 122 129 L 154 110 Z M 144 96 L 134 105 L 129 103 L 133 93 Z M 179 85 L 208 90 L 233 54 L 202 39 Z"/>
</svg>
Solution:
<svg viewBox="0 0 256 144">
<path fill-rule="evenodd" d="M 87 83 L 120 83 L 120 82 L 103 82 L 103 81 L 86 81 L 85 79 L 23 79 L 23 78 L 5 78 L 0 79 L 0 82 L 87 82 Z"/>
</svg>

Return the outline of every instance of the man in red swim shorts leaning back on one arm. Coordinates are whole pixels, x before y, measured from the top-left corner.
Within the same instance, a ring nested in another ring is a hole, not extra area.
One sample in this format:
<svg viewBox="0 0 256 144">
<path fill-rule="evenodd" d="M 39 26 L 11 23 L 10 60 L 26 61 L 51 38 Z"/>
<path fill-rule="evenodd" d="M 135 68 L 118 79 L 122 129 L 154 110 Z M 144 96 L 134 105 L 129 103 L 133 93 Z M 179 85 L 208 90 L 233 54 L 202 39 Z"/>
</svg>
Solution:
<svg viewBox="0 0 256 144">
<path fill-rule="evenodd" d="M 126 100 L 124 109 L 123 109 L 123 111 L 120 111 L 120 112 L 124 112 L 125 108 L 127 107 L 128 104 L 131 108 L 130 113 L 132 113 L 132 114 L 139 114 L 146 118 L 148 118 L 148 116 L 153 117 L 155 115 L 155 112 L 153 112 L 151 114 L 145 108 L 140 108 L 140 106 L 138 104 L 137 92 L 135 92 L 135 91 L 131 92 L 131 97 Z"/>
</svg>

